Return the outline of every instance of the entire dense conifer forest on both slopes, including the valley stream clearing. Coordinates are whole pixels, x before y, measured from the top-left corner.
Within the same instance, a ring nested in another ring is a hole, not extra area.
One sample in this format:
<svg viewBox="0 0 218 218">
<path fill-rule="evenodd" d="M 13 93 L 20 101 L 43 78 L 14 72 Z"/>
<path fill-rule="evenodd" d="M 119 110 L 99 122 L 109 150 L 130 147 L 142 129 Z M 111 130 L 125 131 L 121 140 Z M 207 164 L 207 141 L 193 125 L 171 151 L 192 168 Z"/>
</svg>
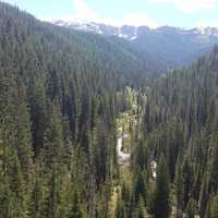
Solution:
<svg viewBox="0 0 218 218">
<path fill-rule="evenodd" d="M 0 2 L 0 218 L 218 218 L 218 47 L 156 64 Z"/>
</svg>

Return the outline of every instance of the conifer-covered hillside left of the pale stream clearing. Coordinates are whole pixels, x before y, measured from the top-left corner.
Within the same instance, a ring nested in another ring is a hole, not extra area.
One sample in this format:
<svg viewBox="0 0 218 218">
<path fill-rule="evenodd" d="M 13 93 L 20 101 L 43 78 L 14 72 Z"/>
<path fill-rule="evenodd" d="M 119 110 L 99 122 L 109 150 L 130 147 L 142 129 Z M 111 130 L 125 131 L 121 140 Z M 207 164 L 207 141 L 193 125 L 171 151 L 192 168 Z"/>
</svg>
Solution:
<svg viewBox="0 0 218 218">
<path fill-rule="evenodd" d="M 108 217 L 117 92 L 142 62 L 4 3 L 0 33 L 0 217 Z"/>
</svg>

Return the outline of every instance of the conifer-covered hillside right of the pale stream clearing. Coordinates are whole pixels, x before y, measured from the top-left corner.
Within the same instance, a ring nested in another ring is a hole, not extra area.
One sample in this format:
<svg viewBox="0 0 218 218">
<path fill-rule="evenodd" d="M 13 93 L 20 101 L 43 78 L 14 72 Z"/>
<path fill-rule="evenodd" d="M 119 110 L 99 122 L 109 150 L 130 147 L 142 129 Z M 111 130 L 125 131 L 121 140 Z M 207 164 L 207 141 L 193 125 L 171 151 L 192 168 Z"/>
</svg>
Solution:
<svg viewBox="0 0 218 218">
<path fill-rule="evenodd" d="M 218 217 L 217 107 L 218 47 L 191 68 L 159 78 L 150 90 L 142 135 L 152 159 L 161 166 L 165 157 L 171 183 L 170 196 L 154 194 L 155 217 L 167 210 L 167 199 L 177 217 Z"/>
</svg>

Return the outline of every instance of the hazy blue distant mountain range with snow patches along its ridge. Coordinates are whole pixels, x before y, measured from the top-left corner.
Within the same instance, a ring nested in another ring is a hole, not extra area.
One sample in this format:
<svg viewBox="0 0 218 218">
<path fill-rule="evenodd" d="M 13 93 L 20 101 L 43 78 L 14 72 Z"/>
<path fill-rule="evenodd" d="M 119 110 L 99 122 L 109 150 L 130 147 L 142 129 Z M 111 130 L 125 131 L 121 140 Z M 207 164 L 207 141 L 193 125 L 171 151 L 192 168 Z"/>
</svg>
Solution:
<svg viewBox="0 0 218 218">
<path fill-rule="evenodd" d="M 55 21 L 56 25 L 93 32 L 107 37 L 119 37 L 130 41 L 143 58 L 152 58 L 162 70 L 172 70 L 191 64 L 218 44 L 218 28 L 198 27 L 184 29 L 171 26 L 149 28 L 147 26 L 121 27 L 94 22 Z"/>
</svg>

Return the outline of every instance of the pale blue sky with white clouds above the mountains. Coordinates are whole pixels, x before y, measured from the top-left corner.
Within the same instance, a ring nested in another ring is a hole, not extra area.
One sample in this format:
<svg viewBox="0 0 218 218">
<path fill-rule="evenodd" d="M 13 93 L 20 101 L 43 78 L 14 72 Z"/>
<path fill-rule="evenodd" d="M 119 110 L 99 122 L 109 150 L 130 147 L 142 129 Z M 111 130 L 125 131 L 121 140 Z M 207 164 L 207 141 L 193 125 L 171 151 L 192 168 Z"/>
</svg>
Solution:
<svg viewBox="0 0 218 218">
<path fill-rule="evenodd" d="M 3 0 L 40 20 L 149 27 L 218 27 L 218 0 Z"/>
</svg>

